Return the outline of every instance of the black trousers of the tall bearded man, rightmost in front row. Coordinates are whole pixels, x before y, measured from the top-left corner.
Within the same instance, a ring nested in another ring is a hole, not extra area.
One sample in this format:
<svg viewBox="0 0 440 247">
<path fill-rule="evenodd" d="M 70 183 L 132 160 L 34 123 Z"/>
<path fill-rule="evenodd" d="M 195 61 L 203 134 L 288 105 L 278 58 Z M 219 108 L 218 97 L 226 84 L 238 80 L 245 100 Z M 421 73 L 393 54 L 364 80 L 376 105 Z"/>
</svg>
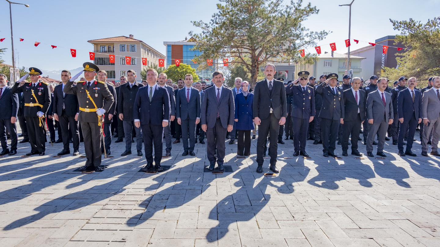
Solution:
<svg viewBox="0 0 440 247">
<path fill-rule="evenodd" d="M 273 113 L 269 114 L 269 117 L 262 119 L 260 125 L 258 125 L 258 139 L 257 139 L 257 163 L 263 165 L 264 158 L 264 145 L 267 142 L 268 134 L 271 135 L 269 142 L 269 155 L 271 156 L 271 165 L 276 164 L 276 158 L 278 156 L 278 140 L 275 138 L 279 134 L 279 118 L 276 118 Z"/>
</svg>

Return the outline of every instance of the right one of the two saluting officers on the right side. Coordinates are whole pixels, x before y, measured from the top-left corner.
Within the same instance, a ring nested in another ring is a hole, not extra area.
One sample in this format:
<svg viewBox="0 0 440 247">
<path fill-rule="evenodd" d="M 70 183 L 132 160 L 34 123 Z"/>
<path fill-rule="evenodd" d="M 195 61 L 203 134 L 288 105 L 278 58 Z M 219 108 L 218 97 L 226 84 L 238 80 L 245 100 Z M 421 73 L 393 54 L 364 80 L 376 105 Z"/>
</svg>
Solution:
<svg viewBox="0 0 440 247">
<path fill-rule="evenodd" d="M 321 131 L 323 134 L 323 156 L 337 157 L 336 149 L 337 128 L 344 124 L 343 91 L 337 86 L 337 73 L 327 75 L 327 80 L 316 87 L 316 93 L 323 97 L 321 117 Z"/>
</svg>

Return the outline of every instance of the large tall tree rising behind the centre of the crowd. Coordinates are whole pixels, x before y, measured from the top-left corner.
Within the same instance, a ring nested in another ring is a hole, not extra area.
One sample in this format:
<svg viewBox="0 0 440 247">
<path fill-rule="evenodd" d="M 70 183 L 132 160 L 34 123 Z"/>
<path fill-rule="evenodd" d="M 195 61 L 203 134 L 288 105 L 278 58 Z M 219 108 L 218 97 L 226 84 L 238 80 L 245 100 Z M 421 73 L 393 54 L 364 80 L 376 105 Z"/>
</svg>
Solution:
<svg viewBox="0 0 440 247">
<path fill-rule="evenodd" d="M 313 47 L 326 31 L 312 32 L 303 22 L 318 9 L 303 0 L 220 0 L 217 13 L 209 23 L 192 22 L 202 33 L 190 32 L 197 40 L 194 47 L 203 51 L 195 58 L 201 68 L 207 59 L 229 58 L 229 65 L 241 64 L 249 71 L 251 82 L 258 78 L 260 67 L 269 62 L 312 63 L 316 54 L 300 57 L 304 47 Z"/>
</svg>

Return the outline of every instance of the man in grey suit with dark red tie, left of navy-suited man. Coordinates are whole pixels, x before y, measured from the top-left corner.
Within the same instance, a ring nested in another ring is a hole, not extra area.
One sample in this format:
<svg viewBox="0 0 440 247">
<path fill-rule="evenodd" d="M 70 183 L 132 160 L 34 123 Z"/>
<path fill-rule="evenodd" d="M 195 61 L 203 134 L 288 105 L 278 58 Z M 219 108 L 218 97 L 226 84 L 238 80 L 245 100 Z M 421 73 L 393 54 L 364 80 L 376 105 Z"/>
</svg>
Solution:
<svg viewBox="0 0 440 247">
<path fill-rule="evenodd" d="M 370 125 L 367 137 L 367 156 L 373 155 L 373 141 L 378 134 L 378 156 L 386 157 L 383 152 L 385 143 L 385 134 L 388 131 L 388 125 L 392 124 L 394 113 L 392 108 L 391 94 L 385 92 L 388 85 L 386 78 L 379 78 L 378 90 L 368 94 L 367 97 L 367 119 Z"/>
</svg>

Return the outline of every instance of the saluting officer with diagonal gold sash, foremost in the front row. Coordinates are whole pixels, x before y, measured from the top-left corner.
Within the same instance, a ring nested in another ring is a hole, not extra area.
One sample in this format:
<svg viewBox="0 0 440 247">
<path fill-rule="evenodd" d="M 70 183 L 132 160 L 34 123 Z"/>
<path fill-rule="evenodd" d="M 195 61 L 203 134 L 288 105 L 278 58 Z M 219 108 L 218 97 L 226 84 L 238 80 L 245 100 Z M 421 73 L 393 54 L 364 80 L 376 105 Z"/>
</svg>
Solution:
<svg viewBox="0 0 440 247">
<path fill-rule="evenodd" d="M 84 136 L 84 149 L 87 161 L 85 166 L 80 167 L 80 171 L 102 171 L 101 166 L 101 143 L 104 113 L 110 110 L 114 103 L 114 98 L 107 85 L 103 81 L 95 80 L 99 67 L 91 62 L 85 62 L 84 77 L 85 81 L 79 81 L 73 85 L 82 72 L 73 76 L 64 86 L 66 94 L 76 94 L 80 108 L 78 121 L 81 123 Z M 104 104 L 104 100 L 106 101 Z"/>
</svg>

